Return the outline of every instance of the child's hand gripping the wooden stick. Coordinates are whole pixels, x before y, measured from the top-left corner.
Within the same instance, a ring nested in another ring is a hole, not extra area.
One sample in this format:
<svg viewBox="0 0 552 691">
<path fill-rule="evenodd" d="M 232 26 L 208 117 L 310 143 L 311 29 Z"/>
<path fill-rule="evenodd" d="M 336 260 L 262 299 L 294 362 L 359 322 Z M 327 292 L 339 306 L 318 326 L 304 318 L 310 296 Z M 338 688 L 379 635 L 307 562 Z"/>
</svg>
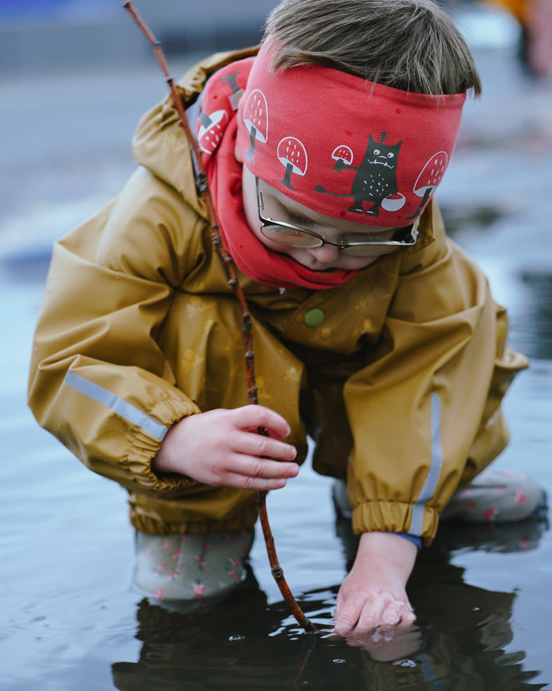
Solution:
<svg viewBox="0 0 552 691">
<path fill-rule="evenodd" d="M 269 436 L 259 434 L 258 427 Z M 264 406 L 190 415 L 170 428 L 152 469 L 216 487 L 277 490 L 299 472 L 298 464 L 289 462 L 296 448 L 281 441 L 289 432 L 286 420 Z"/>
</svg>

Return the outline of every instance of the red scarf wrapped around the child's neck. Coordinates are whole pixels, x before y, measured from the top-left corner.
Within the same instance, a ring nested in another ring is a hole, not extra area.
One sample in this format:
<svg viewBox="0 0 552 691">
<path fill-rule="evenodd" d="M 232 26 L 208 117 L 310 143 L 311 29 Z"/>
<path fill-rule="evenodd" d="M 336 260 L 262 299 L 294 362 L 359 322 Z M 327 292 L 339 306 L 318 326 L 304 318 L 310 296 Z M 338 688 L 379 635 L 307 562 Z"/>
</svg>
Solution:
<svg viewBox="0 0 552 691">
<path fill-rule="evenodd" d="M 312 271 L 288 255 L 268 250 L 247 224 L 242 201 L 242 165 L 235 158 L 235 108 L 253 59 L 235 62 L 213 75 L 203 92 L 196 127 L 205 153 L 203 164 L 217 209 L 222 240 L 238 269 L 263 285 L 282 288 L 333 288 L 358 271 Z M 210 113 L 210 115 L 205 115 Z M 205 127 L 207 125 L 207 127 Z"/>
</svg>

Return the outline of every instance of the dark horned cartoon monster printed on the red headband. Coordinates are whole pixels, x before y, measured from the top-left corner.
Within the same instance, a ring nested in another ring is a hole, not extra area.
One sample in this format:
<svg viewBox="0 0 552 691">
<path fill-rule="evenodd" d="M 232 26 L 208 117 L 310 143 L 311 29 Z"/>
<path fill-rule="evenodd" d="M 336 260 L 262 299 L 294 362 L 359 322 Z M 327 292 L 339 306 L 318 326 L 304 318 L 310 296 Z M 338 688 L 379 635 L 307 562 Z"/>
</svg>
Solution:
<svg viewBox="0 0 552 691">
<path fill-rule="evenodd" d="M 334 166 L 336 171 L 356 171 L 350 194 L 334 194 L 321 185 L 314 187 L 314 190 L 322 194 L 331 194 L 333 197 L 352 197 L 353 204 L 347 211 L 379 216 L 384 199 L 398 193 L 397 164 L 402 141 L 397 144 L 386 144 L 387 138 L 385 131 L 379 136 L 379 142 L 370 134 L 365 155 L 358 166 L 347 163 L 341 157 L 337 158 Z M 372 204 L 366 211 L 365 202 Z"/>
</svg>

